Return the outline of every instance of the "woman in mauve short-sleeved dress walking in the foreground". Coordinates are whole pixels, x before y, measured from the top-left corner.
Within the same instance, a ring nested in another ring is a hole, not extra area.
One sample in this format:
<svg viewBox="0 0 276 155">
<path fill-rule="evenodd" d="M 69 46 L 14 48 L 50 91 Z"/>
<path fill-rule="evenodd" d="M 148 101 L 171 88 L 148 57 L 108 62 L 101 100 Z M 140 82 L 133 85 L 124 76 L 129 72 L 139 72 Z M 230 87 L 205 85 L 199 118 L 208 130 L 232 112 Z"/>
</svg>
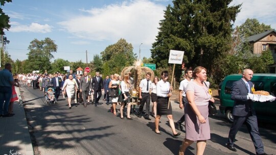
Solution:
<svg viewBox="0 0 276 155">
<path fill-rule="evenodd" d="M 188 102 L 185 104 L 186 138 L 179 148 L 179 154 L 184 154 L 188 146 L 197 141 L 196 154 L 203 154 L 206 141 L 211 138 L 208 119 L 209 101 L 214 98 L 209 94 L 209 89 L 204 81 L 207 79 L 206 69 L 198 66 L 193 72 L 194 81 L 189 82 L 185 88 Z"/>
</svg>

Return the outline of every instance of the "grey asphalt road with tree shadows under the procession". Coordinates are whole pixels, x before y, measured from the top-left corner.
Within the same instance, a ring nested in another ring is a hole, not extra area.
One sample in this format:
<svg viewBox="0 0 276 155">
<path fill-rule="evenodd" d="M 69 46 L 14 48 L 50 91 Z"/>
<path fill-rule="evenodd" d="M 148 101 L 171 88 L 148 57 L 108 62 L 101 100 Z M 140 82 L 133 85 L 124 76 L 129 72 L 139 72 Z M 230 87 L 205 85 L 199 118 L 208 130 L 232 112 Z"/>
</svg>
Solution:
<svg viewBox="0 0 276 155">
<path fill-rule="evenodd" d="M 109 112 L 111 105 L 87 105 L 86 108 L 73 104 L 68 109 L 66 98 L 60 96 L 57 105 L 45 105 L 43 92 L 21 85 L 20 92 L 25 104 L 29 130 L 37 154 L 178 154 L 179 145 L 185 137 L 173 138 L 168 119 L 160 119 L 162 135 L 154 133 L 154 119 L 145 120 L 132 115 L 133 120 L 120 119 Z M 103 95 L 102 95 L 103 96 Z M 173 117 L 176 121 L 183 112 L 176 102 Z M 218 114 L 210 118 L 211 140 L 204 154 L 255 154 L 254 145 L 243 125 L 235 142 L 237 152 L 225 147 L 229 128 L 225 117 Z M 276 128 L 260 127 L 260 134 L 267 153 L 276 152 Z M 186 154 L 195 154 L 192 144 Z"/>
</svg>

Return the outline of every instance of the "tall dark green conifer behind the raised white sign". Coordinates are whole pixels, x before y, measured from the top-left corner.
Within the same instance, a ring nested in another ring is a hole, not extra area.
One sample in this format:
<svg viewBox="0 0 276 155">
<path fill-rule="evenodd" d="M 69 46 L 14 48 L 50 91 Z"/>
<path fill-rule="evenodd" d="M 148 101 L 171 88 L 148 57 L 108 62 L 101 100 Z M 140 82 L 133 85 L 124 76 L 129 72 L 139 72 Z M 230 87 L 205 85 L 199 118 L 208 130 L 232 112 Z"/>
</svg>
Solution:
<svg viewBox="0 0 276 155">
<path fill-rule="evenodd" d="M 231 49 L 232 24 L 240 6 L 226 1 L 175 0 L 165 11 L 151 50 L 158 67 L 168 65 L 169 50 L 183 50 L 186 66 L 202 65 L 213 73 L 215 59 Z"/>
</svg>

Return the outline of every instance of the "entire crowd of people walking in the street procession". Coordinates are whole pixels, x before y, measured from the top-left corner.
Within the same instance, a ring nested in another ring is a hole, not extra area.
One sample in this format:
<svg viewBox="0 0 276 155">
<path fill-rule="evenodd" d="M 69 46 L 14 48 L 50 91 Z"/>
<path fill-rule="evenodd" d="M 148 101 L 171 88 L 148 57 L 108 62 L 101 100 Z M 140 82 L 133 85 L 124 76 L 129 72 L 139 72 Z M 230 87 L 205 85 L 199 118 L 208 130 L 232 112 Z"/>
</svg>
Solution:
<svg viewBox="0 0 276 155">
<path fill-rule="evenodd" d="M 206 141 L 211 138 L 211 131 L 208 118 L 209 102 L 214 102 L 214 98 L 209 94 L 210 83 L 206 82 L 207 70 L 204 67 L 196 67 L 194 71 L 191 69 L 185 70 L 185 78 L 180 82 L 179 86 L 179 108 L 183 109 L 183 116 L 174 123 L 172 115 L 172 106 L 170 104 L 170 97 L 172 96 L 172 86 L 168 82 L 168 71 L 162 71 L 160 79 L 158 76 L 154 77 L 151 82 L 151 73 L 146 73 L 145 79 L 141 80 L 139 85 L 138 98 L 140 99 L 139 110 L 137 117 L 142 117 L 144 113 L 144 106 L 146 104 L 146 112 L 144 118 L 151 120 L 150 116 L 155 119 L 155 133 L 161 135 L 159 131 L 159 121 L 162 115 L 167 115 L 169 124 L 172 130 L 172 136 L 177 137 L 182 130 L 181 123 L 185 122 L 186 136 L 179 147 L 179 154 L 185 154 L 186 149 L 196 141 L 196 154 L 203 154 L 206 146 Z M 248 93 L 251 93 L 250 82 L 253 71 L 245 69 L 242 74 L 242 79 L 235 82 L 232 88 L 231 98 L 235 100 L 233 108 L 234 123 L 229 131 L 229 137 L 226 147 L 229 150 L 237 151 L 234 147 L 235 136 L 241 127 L 246 122 L 247 128 L 252 141 L 254 142 L 257 154 L 267 154 L 264 152 L 264 146 L 259 134 L 257 117 L 252 102 L 248 98 Z M 72 70 L 68 75 L 55 73 L 51 74 L 20 74 L 18 75 L 19 82 L 22 82 L 28 87 L 34 89 L 39 88 L 41 91 L 46 91 L 47 86 L 53 86 L 52 92 L 55 93 L 55 98 L 58 100 L 60 90 L 63 97 L 67 95 L 68 108 L 72 109 L 72 98 L 75 102 L 86 107 L 88 104 L 94 104 L 95 107 L 99 105 L 99 100 L 104 91 L 104 101 L 106 104 L 112 104 L 110 112 L 117 115 L 116 107 L 120 105 L 120 118 L 124 119 L 124 109 L 127 106 L 126 119 L 132 120 L 130 91 L 133 88 L 133 77 L 131 73 L 120 76 L 119 74 L 107 75 L 103 79 L 99 72 L 96 72 L 94 77 L 87 75 L 85 71 L 80 75 L 75 75 Z M 109 78 L 110 77 L 110 78 Z M 12 103 L 16 100 L 17 95 L 14 86 L 19 87 L 18 81 L 14 79 L 11 74 L 11 65 L 6 64 L 5 69 L 0 71 L 0 116 L 13 116 Z M 50 91 L 50 90 L 49 90 Z M 90 102 L 90 97 L 92 102 Z M 49 96 L 53 99 L 53 96 Z M 5 104 L 4 104 L 5 101 Z M 153 106 L 150 112 L 150 101 Z M 176 124 L 176 126 L 175 126 Z"/>
</svg>

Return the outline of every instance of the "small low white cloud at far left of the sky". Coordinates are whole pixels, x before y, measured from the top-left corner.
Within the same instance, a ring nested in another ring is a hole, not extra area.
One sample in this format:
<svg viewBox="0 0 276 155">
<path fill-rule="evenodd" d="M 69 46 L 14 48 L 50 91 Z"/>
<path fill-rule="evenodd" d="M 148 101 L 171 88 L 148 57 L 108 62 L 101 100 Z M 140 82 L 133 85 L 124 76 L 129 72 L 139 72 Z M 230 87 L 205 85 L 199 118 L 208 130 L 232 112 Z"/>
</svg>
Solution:
<svg viewBox="0 0 276 155">
<path fill-rule="evenodd" d="M 32 22 L 30 25 L 22 25 L 18 22 L 11 22 L 10 32 L 34 32 L 34 33 L 49 33 L 52 27 L 48 24 L 41 25 Z"/>
</svg>

